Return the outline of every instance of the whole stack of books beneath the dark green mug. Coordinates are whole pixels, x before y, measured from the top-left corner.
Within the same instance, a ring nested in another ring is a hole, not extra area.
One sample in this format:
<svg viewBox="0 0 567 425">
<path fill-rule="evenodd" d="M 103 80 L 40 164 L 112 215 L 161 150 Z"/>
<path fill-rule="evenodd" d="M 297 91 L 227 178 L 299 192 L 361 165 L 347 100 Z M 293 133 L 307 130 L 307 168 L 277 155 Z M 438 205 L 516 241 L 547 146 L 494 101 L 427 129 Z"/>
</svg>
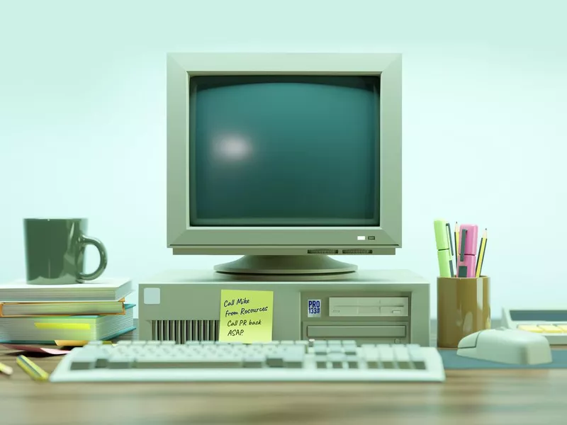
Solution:
<svg viewBox="0 0 567 425">
<path fill-rule="evenodd" d="M 134 305 L 125 304 L 132 292 L 126 278 L 74 285 L 0 283 L 0 343 L 114 339 L 134 329 Z"/>
</svg>

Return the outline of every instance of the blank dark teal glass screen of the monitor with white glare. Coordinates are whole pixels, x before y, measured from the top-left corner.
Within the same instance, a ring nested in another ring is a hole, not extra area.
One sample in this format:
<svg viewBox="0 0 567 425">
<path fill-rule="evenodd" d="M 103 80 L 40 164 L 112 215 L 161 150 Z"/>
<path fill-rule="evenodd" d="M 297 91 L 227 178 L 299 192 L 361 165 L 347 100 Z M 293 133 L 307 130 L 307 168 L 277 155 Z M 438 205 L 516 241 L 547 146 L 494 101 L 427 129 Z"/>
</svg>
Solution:
<svg viewBox="0 0 567 425">
<path fill-rule="evenodd" d="M 379 226 L 380 77 L 197 76 L 191 226 Z"/>
</svg>

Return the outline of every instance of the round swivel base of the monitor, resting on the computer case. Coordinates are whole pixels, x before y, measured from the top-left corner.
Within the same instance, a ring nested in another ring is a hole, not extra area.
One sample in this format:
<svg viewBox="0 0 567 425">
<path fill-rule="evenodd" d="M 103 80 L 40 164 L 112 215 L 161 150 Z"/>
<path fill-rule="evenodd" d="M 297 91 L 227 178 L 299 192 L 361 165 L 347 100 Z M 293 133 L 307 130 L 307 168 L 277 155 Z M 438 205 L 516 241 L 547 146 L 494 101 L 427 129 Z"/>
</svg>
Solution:
<svg viewBox="0 0 567 425">
<path fill-rule="evenodd" d="M 326 255 L 245 255 L 236 261 L 218 264 L 215 271 L 264 276 L 343 275 L 354 273 L 357 266 Z"/>
</svg>

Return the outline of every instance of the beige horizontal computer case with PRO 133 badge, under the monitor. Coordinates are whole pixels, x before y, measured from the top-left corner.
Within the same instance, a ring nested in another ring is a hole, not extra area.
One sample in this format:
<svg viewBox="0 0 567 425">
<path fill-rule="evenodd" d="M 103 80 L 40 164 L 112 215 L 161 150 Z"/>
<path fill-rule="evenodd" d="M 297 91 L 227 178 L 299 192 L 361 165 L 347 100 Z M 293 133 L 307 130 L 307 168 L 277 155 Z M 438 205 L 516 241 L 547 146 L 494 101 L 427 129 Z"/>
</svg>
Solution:
<svg viewBox="0 0 567 425">
<path fill-rule="evenodd" d="M 140 282 L 140 339 L 218 340 L 223 289 L 273 291 L 276 341 L 430 345 L 430 284 L 405 270 L 358 271 L 323 281 L 243 280 L 215 271 L 166 271 Z"/>
</svg>

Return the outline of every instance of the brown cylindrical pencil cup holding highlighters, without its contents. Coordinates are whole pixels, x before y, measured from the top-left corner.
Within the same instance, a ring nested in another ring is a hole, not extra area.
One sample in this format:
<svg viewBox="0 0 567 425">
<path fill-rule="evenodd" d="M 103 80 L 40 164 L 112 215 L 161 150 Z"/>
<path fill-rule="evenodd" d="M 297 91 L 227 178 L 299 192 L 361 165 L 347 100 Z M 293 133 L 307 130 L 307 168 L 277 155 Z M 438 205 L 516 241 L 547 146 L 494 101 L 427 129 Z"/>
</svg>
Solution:
<svg viewBox="0 0 567 425">
<path fill-rule="evenodd" d="M 437 346 L 456 348 L 484 329 L 490 329 L 490 278 L 437 278 Z"/>
</svg>

